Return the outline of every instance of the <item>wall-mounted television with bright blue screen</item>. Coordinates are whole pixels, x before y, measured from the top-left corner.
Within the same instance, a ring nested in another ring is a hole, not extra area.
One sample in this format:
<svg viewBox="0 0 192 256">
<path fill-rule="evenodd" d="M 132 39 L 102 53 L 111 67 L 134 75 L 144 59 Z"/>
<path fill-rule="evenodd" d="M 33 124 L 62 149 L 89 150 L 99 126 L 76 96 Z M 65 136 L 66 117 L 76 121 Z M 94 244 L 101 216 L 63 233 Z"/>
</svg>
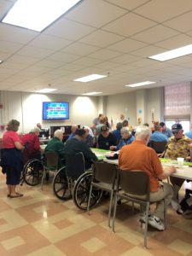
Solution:
<svg viewBox="0 0 192 256">
<path fill-rule="evenodd" d="M 69 119 L 68 102 L 43 102 L 43 119 Z"/>
</svg>

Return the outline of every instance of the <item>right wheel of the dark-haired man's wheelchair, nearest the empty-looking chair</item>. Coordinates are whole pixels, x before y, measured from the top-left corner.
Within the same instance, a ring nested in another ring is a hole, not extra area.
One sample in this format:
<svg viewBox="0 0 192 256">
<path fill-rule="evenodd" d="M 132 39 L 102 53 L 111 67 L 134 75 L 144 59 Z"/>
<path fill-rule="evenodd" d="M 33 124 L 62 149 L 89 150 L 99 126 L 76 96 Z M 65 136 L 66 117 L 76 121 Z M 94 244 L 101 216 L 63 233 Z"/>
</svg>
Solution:
<svg viewBox="0 0 192 256">
<path fill-rule="evenodd" d="M 87 210 L 90 195 L 90 183 L 92 172 L 84 172 L 74 184 L 73 202 L 81 210 Z M 90 197 L 90 208 L 95 207 L 101 201 L 102 190 L 93 189 Z"/>
</svg>

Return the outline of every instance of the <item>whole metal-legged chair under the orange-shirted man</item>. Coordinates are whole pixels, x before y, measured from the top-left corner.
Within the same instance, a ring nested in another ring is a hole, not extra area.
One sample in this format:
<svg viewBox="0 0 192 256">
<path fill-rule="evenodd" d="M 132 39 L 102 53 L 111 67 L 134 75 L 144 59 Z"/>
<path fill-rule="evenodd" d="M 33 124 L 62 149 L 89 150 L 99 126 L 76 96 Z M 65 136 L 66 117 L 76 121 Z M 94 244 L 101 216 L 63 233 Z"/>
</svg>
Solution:
<svg viewBox="0 0 192 256">
<path fill-rule="evenodd" d="M 145 207 L 145 229 L 144 229 L 144 247 L 147 247 L 148 235 L 148 213 L 150 206 L 150 180 L 148 174 L 143 171 L 120 170 L 118 171 L 118 191 L 115 194 L 113 210 L 113 232 L 114 221 L 119 198 L 132 201 Z M 164 200 L 164 219 L 166 227 L 166 201 Z"/>
</svg>

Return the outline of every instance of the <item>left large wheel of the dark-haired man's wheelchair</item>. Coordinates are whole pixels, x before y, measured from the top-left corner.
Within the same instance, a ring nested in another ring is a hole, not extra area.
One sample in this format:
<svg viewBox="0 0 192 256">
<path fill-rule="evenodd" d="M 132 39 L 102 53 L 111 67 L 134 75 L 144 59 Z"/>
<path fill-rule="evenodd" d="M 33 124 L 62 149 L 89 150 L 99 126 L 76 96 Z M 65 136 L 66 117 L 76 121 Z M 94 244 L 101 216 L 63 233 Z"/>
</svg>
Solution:
<svg viewBox="0 0 192 256">
<path fill-rule="evenodd" d="M 54 195 L 61 200 L 67 200 L 72 197 L 72 181 L 68 182 L 68 180 L 66 166 L 56 172 L 53 180 L 53 191 Z"/>
</svg>

